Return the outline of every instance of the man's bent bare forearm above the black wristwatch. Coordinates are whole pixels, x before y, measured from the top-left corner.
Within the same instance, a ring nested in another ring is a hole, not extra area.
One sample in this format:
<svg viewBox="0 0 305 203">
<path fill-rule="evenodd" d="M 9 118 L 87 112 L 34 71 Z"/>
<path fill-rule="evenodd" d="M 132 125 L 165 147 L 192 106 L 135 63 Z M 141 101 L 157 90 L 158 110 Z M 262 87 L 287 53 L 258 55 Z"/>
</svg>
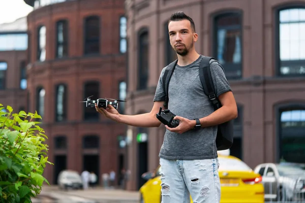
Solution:
<svg viewBox="0 0 305 203">
<path fill-rule="evenodd" d="M 221 107 L 210 115 L 200 118 L 201 127 L 209 127 L 225 123 L 237 117 L 237 110 L 235 108 Z M 196 121 L 195 121 L 196 123 Z"/>
</svg>

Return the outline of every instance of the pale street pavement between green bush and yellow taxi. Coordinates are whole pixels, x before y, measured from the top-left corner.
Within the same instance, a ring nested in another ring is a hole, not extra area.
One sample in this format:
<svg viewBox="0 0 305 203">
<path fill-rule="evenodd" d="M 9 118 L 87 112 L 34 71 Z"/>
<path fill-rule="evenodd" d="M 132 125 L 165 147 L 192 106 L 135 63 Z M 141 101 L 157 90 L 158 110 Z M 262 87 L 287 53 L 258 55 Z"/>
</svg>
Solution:
<svg viewBox="0 0 305 203">
<path fill-rule="evenodd" d="M 138 191 L 104 189 L 60 190 L 57 186 L 45 185 L 33 203 L 138 203 Z"/>
</svg>

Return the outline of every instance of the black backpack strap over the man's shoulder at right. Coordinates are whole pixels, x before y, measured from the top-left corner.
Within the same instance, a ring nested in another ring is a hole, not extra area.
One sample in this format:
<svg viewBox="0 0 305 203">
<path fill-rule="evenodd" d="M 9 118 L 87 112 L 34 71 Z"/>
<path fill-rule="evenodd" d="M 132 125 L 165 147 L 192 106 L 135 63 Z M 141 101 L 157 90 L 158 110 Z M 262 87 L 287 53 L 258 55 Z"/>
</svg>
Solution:
<svg viewBox="0 0 305 203">
<path fill-rule="evenodd" d="M 211 59 L 216 60 L 213 57 L 207 57 L 207 56 L 203 56 L 203 58 L 201 59 L 200 65 L 199 65 L 199 78 L 200 78 L 200 82 L 203 86 L 204 93 L 211 100 L 211 103 L 212 103 L 214 109 L 217 110 L 220 108 L 220 101 L 218 100 L 218 98 L 216 96 L 214 83 L 213 83 L 213 79 L 211 76 L 211 71 L 210 71 L 210 66 L 209 66 L 209 61 Z"/>
</svg>

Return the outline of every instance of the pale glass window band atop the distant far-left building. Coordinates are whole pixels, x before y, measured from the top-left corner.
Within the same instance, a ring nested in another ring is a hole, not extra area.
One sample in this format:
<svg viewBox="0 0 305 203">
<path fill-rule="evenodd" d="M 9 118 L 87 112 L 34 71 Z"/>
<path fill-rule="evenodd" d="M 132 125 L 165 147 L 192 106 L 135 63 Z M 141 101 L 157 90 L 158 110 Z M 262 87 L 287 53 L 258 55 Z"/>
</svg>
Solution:
<svg viewBox="0 0 305 203">
<path fill-rule="evenodd" d="M 26 50 L 26 33 L 6 33 L 0 35 L 0 51 Z"/>
</svg>

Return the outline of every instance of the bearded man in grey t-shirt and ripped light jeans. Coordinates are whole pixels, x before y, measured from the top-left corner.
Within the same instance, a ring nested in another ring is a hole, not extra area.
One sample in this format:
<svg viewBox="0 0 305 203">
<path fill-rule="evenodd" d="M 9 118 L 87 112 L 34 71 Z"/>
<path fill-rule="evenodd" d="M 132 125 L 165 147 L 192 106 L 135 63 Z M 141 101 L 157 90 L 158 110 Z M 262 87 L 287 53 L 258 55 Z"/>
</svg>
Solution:
<svg viewBox="0 0 305 203">
<path fill-rule="evenodd" d="M 220 202 L 220 180 L 216 147 L 217 125 L 237 117 L 236 102 L 221 65 L 210 61 L 212 79 L 222 107 L 214 111 L 199 79 L 199 55 L 194 47 L 198 39 L 194 21 L 183 12 L 172 14 L 169 23 L 170 44 L 178 62 L 169 82 L 168 109 L 180 121 L 175 128 L 166 126 L 160 151 L 162 202 Z M 159 127 L 156 118 L 165 101 L 162 70 L 154 106 L 149 113 L 121 115 L 112 107 L 97 111 L 119 123 L 140 127 Z M 194 130 L 195 118 L 201 128 Z"/>
</svg>

